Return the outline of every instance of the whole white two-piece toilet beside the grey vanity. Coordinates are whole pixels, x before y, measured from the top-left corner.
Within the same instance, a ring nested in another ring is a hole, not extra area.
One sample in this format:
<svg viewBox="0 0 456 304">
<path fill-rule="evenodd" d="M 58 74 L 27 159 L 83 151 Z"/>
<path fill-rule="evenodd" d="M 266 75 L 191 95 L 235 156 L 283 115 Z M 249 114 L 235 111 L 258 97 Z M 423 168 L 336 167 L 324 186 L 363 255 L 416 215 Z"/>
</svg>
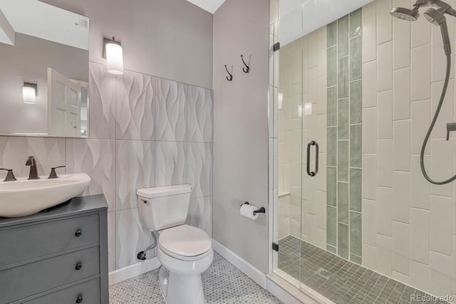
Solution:
<svg viewBox="0 0 456 304">
<path fill-rule="evenodd" d="M 211 265 L 214 252 L 205 231 L 185 224 L 191 193 L 190 184 L 137 191 L 142 224 L 160 234 L 157 258 L 167 304 L 206 303 L 201 273 Z"/>
</svg>

